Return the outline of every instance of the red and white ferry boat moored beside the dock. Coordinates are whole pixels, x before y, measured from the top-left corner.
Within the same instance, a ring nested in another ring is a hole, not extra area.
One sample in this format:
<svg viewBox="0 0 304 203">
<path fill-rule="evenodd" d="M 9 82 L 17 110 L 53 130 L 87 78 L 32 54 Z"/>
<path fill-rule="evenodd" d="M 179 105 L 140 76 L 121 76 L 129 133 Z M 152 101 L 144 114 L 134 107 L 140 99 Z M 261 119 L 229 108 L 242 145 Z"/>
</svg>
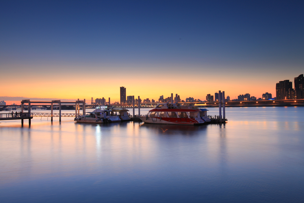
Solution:
<svg viewBox="0 0 304 203">
<path fill-rule="evenodd" d="M 207 109 L 202 106 L 182 106 L 178 103 L 161 103 L 147 115 L 138 117 L 144 123 L 195 125 L 210 122 Z"/>
</svg>

